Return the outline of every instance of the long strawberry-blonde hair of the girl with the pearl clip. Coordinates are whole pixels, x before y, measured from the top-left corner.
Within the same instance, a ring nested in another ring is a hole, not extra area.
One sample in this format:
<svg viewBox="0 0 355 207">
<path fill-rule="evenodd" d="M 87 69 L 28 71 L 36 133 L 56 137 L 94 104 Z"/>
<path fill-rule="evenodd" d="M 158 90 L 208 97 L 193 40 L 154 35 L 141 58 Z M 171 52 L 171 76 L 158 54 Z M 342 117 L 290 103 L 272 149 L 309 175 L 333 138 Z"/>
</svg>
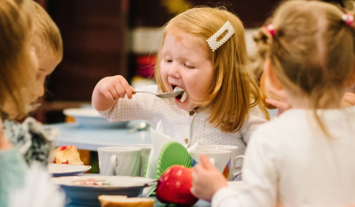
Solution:
<svg viewBox="0 0 355 207">
<path fill-rule="evenodd" d="M 175 16 L 162 30 L 163 38 L 168 30 L 174 27 L 208 39 L 226 21 L 231 23 L 235 33 L 216 51 L 209 51 L 213 68 L 212 85 L 208 95 L 199 104 L 201 108 L 213 106 L 208 121 L 215 127 L 219 126 L 224 132 L 235 132 L 243 126 L 249 109 L 256 106 L 259 100 L 258 85 L 247 67 L 244 26 L 240 19 L 224 7 L 197 7 Z M 157 57 L 155 77 L 159 90 L 166 92 L 160 77 L 159 65 L 162 60 L 163 44 L 164 39 Z M 263 108 L 261 105 L 260 107 Z M 264 112 L 268 116 L 266 110 Z"/>
</svg>

